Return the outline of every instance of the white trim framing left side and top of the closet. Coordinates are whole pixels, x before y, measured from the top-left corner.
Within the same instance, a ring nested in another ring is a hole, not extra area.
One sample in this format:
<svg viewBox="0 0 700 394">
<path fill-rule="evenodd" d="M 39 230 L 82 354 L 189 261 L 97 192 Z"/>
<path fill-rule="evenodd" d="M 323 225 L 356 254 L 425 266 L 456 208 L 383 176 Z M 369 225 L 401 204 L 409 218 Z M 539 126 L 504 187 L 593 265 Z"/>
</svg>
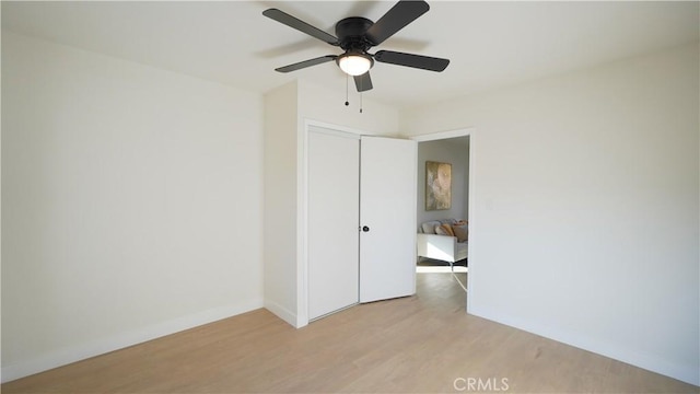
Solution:
<svg viewBox="0 0 700 394">
<path fill-rule="evenodd" d="M 304 118 L 302 132 L 298 134 L 296 157 L 296 328 L 308 325 L 308 132 L 311 127 L 320 127 L 332 135 L 373 136 L 350 127 Z"/>
</svg>

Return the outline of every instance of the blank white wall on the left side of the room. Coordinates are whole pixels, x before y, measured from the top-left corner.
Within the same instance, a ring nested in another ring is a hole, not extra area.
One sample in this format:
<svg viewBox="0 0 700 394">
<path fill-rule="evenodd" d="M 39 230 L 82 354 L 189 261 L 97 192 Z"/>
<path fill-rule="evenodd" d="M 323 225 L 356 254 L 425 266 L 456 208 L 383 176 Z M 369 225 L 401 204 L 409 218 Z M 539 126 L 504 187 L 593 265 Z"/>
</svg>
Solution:
<svg viewBox="0 0 700 394">
<path fill-rule="evenodd" d="M 2 34 L 2 379 L 262 306 L 261 97 Z"/>
</svg>

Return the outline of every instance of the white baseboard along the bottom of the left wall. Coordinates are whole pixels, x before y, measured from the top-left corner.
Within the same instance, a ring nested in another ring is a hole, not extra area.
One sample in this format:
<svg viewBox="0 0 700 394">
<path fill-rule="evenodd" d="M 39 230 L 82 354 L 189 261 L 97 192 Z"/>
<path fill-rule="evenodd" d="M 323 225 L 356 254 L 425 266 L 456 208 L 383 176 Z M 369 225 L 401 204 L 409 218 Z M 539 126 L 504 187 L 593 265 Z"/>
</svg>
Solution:
<svg viewBox="0 0 700 394">
<path fill-rule="evenodd" d="M 248 300 L 247 302 L 214 308 L 191 315 L 156 323 L 147 327 L 132 329 L 109 338 L 57 349 L 31 360 L 3 366 L 2 369 L 0 369 L 0 381 L 2 383 L 10 382 L 34 373 L 44 372 L 75 361 L 104 355 L 109 351 L 122 349 L 222 318 L 235 316 L 262 306 L 264 304 L 261 299 Z"/>
</svg>

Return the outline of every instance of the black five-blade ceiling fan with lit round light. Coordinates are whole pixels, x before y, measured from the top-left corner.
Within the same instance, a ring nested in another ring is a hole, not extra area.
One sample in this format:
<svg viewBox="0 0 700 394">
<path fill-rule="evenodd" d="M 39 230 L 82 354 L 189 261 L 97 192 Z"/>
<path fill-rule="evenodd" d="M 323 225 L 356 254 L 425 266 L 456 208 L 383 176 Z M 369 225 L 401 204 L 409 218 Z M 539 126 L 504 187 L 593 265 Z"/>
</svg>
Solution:
<svg viewBox="0 0 700 394">
<path fill-rule="evenodd" d="M 326 55 L 280 67 L 275 69 L 276 71 L 290 72 L 335 60 L 343 72 L 354 78 L 358 92 L 364 92 L 372 89 L 370 69 L 374 66 L 375 60 L 431 71 L 443 71 L 450 65 L 448 59 L 393 50 L 369 53 L 370 48 L 382 44 L 396 32 L 428 12 L 428 10 L 430 10 L 430 7 L 425 1 L 401 0 L 376 23 L 361 16 L 351 16 L 339 21 L 336 23 L 337 37 L 278 9 L 265 10 L 262 14 L 345 50 L 341 55 Z"/>
</svg>

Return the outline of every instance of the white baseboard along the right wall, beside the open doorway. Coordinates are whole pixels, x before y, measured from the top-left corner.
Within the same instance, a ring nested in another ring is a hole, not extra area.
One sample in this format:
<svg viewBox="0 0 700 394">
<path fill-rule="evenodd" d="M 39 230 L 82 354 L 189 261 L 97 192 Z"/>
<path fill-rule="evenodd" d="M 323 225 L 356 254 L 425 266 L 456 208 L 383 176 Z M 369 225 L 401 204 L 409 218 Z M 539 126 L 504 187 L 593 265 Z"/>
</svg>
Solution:
<svg viewBox="0 0 700 394">
<path fill-rule="evenodd" d="M 693 366 L 674 363 L 655 357 L 654 355 L 640 354 L 634 349 L 620 347 L 618 344 L 602 341 L 582 333 L 563 332 L 552 327 L 545 327 L 536 322 L 523 321 L 522 318 L 502 314 L 498 311 L 483 310 L 480 308 L 474 308 L 472 305 L 469 313 L 475 316 L 483 317 L 535 335 L 553 339 L 562 344 L 627 362 L 652 372 L 661 373 L 686 383 L 700 385 L 700 373 L 698 372 L 697 367 Z"/>
</svg>

